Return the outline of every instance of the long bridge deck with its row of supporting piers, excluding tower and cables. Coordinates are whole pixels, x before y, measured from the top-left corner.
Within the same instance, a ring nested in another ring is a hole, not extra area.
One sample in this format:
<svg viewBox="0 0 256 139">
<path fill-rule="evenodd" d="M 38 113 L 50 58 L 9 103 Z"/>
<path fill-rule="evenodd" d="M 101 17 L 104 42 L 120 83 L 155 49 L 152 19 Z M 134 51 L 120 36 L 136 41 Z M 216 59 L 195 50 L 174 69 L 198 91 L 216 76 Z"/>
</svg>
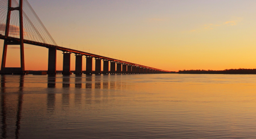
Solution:
<svg viewBox="0 0 256 139">
<path fill-rule="evenodd" d="M 10 36 L 0 35 L 0 39 L 9 42 L 9 45 L 19 44 L 19 38 L 13 38 Z M 34 46 L 46 47 L 48 48 L 48 74 L 56 73 L 56 50 L 63 51 L 63 74 L 71 74 L 70 72 L 70 54 L 76 55 L 76 66 L 75 73 L 82 74 L 82 56 L 86 56 L 86 74 L 92 74 L 92 58 L 95 58 L 95 73 L 101 73 L 101 60 L 103 60 L 103 73 L 104 74 L 136 74 L 136 73 L 169 73 L 170 71 L 165 71 L 153 67 L 143 66 L 136 63 L 125 62 L 123 60 L 108 58 L 106 56 L 95 55 L 88 52 L 78 51 L 70 48 L 55 46 L 52 44 L 34 42 L 31 40 L 23 40 L 26 44 L 31 44 Z M 110 62 L 110 71 L 109 71 Z M 5 73 L 18 73 L 19 68 L 6 68 Z M 1 70 L 2 71 L 2 70 Z"/>
</svg>

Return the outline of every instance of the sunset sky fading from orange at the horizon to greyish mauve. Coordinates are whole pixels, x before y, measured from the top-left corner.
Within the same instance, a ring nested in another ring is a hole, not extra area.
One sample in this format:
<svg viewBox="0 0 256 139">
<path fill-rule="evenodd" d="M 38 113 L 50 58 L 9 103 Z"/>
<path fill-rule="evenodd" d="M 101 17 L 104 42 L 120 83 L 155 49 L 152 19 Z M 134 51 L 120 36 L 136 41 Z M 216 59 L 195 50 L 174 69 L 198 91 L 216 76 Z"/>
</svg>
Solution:
<svg viewBox="0 0 256 139">
<path fill-rule="evenodd" d="M 256 68 L 255 0 L 29 2 L 59 46 L 168 71 Z M 26 70 L 47 70 L 47 48 L 25 47 Z M 6 66 L 19 67 L 18 55 L 9 48 Z"/>
</svg>

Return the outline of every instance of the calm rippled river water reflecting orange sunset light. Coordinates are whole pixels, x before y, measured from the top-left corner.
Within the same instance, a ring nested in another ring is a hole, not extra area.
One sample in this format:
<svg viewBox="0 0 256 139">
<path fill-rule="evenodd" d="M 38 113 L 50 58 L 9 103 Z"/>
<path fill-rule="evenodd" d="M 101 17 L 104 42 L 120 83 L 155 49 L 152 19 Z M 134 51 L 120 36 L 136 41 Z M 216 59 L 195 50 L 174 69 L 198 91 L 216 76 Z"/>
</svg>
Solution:
<svg viewBox="0 0 256 139">
<path fill-rule="evenodd" d="M 1 76 L 1 138 L 256 138 L 256 75 Z"/>
</svg>

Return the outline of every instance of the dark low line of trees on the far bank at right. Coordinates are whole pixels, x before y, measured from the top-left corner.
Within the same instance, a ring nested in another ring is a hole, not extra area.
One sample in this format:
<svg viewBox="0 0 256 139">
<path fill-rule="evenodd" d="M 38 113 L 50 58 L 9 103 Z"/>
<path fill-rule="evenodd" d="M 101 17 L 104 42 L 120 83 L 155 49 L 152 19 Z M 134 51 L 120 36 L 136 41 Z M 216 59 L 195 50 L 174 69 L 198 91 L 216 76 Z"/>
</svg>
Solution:
<svg viewBox="0 0 256 139">
<path fill-rule="evenodd" d="M 222 71 L 214 71 L 214 70 L 183 70 L 178 71 L 176 73 L 187 73 L 187 74 L 256 74 L 256 69 L 225 69 Z"/>
</svg>

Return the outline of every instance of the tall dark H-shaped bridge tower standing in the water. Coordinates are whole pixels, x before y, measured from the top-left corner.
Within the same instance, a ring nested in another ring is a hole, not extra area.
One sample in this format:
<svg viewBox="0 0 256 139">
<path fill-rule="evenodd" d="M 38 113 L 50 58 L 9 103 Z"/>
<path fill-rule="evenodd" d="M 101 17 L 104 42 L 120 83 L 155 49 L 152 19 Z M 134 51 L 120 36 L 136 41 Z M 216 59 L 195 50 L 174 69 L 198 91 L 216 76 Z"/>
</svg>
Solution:
<svg viewBox="0 0 256 139">
<path fill-rule="evenodd" d="M 4 40 L 3 43 L 3 56 L 2 56 L 2 66 L 1 66 L 1 73 L 2 74 L 25 74 L 25 63 L 24 63 L 24 43 L 23 43 L 23 0 L 19 0 L 18 7 L 11 7 L 11 1 L 8 0 L 8 11 L 7 11 L 7 18 L 6 18 L 6 28 L 5 28 L 5 36 L 9 36 L 9 29 L 10 29 L 10 18 L 11 18 L 11 11 L 17 10 L 19 11 L 19 41 L 11 41 L 11 40 Z M 21 67 L 20 68 L 7 68 L 5 67 L 6 64 L 6 54 L 7 54 L 7 46 L 8 45 L 19 45 L 21 50 Z"/>
</svg>

